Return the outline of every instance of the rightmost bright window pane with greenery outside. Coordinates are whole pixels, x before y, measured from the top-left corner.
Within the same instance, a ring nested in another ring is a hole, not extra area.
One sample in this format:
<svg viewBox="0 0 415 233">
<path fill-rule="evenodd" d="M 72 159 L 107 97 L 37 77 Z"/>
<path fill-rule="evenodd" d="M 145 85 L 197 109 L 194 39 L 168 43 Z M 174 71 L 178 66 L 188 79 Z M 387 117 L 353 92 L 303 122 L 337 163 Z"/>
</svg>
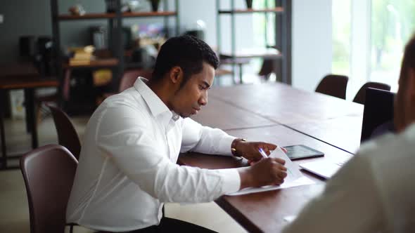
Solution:
<svg viewBox="0 0 415 233">
<path fill-rule="evenodd" d="M 397 91 L 404 46 L 415 29 L 414 0 L 371 1 L 370 81 Z"/>
</svg>

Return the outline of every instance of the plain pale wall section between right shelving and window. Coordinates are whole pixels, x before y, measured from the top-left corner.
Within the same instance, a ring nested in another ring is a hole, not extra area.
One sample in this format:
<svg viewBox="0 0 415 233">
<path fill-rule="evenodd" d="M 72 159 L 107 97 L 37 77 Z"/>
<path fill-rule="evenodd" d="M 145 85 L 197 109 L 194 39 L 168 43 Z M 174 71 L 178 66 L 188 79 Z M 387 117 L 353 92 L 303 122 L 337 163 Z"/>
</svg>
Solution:
<svg viewBox="0 0 415 233">
<path fill-rule="evenodd" d="M 331 0 L 293 0 L 293 86 L 314 91 L 331 72 Z"/>
</svg>

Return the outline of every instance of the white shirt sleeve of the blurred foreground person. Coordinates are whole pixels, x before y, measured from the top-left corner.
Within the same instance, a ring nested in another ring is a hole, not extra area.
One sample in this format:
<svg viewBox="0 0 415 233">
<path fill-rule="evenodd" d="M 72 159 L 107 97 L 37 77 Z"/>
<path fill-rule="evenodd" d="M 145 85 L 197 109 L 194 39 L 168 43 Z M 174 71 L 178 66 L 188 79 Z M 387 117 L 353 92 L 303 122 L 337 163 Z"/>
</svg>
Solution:
<svg viewBox="0 0 415 233">
<path fill-rule="evenodd" d="M 283 232 L 378 232 L 384 219 L 378 195 L 370 162 L 357 154 Z"/>
</svg>

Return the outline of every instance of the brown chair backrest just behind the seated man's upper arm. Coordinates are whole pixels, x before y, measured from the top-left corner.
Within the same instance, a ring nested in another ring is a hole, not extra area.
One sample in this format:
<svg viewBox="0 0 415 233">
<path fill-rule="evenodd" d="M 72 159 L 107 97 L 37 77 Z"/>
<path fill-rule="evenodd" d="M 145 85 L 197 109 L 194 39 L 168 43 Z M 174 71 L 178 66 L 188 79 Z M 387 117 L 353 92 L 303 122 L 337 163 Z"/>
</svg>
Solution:
<svg viewBox="0 0 415 233">
<path fill-rule="evenodd" d="M 68 148 L 69 151 L 79 159 L 81 152 L 81 142 L 79 140 L 77 131 L 72 122 L 70 122 L 69 116 L 65 114 L 58 107 L 47 105 L 51 109 L 53 121 L 55 122 L 56 132 L 58 133 L 58 142 L 60 145 Z"/>
</svg>

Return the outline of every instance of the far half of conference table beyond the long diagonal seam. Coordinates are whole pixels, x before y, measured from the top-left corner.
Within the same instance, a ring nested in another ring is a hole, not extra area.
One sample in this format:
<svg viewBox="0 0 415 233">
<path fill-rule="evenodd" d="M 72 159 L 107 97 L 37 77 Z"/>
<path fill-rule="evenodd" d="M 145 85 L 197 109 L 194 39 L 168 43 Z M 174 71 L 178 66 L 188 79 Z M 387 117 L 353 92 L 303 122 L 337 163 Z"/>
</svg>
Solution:
<svg viewBox="0 0 415 233">
<path fill-rule="evenodd" d="M 355 102 L 278 83 L 213 87 L 209 97 L 347 152 L 360 145 L 364 106 Z"/>
</svg>

